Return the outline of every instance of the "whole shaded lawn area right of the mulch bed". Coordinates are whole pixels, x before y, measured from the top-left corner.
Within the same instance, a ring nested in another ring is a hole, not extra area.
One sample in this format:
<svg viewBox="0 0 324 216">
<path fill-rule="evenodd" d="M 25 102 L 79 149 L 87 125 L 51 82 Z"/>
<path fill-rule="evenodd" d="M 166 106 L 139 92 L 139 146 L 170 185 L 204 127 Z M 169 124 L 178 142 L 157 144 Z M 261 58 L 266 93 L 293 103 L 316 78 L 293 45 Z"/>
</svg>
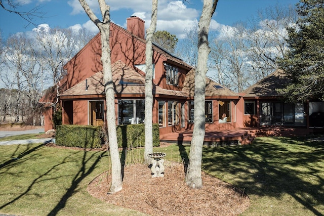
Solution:
<svg viewBox="0 0 324 216">
<path fill-rule="evenodd" d="M 204 170 L 249 195 L 243 215 L 324 215 L 324 141 L 258 138 L 205 149 Z"/>
</svg>

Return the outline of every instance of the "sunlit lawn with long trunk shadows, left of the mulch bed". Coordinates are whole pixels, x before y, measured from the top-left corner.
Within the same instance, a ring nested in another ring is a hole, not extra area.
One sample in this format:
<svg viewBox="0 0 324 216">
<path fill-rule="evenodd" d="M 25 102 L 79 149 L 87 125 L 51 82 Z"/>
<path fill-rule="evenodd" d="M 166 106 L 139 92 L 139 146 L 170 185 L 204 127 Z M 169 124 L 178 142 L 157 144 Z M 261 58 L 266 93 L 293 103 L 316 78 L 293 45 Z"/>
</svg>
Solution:
<svg viewBox="0 0 324 216">
<path fill-rule="evenodd" d="M 57 149 L 43 144 L 0 146 L 0 212 L 144 215 L 88 194 L 89 182 L 108 167 L 106 151 Z"/>
</svg>

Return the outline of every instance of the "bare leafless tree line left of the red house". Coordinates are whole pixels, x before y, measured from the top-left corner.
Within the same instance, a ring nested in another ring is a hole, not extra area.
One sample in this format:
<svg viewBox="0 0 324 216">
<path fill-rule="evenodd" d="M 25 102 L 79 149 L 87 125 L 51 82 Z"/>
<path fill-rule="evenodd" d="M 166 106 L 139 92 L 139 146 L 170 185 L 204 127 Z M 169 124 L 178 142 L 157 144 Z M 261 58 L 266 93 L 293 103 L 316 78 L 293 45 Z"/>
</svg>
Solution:
<svg viewBox="0 0 324 216">
<path fill-rule="evenodd" d="M 65 75 L 64 64 L 93 36 L 86 29 L 51 29 L 41 25 L 6 40 L 0 37 L 0 122 L 41 125 L 39 99 L 45 90 L 58 86 Z"/>
</svg>

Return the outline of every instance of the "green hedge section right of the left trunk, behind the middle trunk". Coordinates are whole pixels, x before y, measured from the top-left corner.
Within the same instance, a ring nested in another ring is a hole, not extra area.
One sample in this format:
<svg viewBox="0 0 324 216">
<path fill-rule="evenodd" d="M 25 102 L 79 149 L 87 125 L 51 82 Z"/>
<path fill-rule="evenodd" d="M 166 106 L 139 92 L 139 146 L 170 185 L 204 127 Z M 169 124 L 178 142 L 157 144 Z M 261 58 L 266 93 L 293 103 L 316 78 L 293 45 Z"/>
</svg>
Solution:
<svg viewBox="0 0 324 216">
<path fill-rule="evenodd" d="M 145 145 L 144 124 L 117 126 L 118 147 L 136 148 Z M 160 145 L 158 124 L 153 124 L 153 147 Z"/>
</svg>

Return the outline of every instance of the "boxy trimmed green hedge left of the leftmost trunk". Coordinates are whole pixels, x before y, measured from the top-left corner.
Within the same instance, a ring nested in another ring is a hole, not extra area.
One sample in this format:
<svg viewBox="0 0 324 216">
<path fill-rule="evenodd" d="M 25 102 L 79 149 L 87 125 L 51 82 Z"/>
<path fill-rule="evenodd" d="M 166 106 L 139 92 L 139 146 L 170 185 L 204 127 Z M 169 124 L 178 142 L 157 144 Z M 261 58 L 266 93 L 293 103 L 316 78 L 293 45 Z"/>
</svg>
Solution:
<svg viewBox="0 0 324 216">
<path fill-rule="evenodd" d="M 101 126 L 92 125 L 57 125 L 56 144 L 59 146 L 100 148 Z"/>
</svg>

